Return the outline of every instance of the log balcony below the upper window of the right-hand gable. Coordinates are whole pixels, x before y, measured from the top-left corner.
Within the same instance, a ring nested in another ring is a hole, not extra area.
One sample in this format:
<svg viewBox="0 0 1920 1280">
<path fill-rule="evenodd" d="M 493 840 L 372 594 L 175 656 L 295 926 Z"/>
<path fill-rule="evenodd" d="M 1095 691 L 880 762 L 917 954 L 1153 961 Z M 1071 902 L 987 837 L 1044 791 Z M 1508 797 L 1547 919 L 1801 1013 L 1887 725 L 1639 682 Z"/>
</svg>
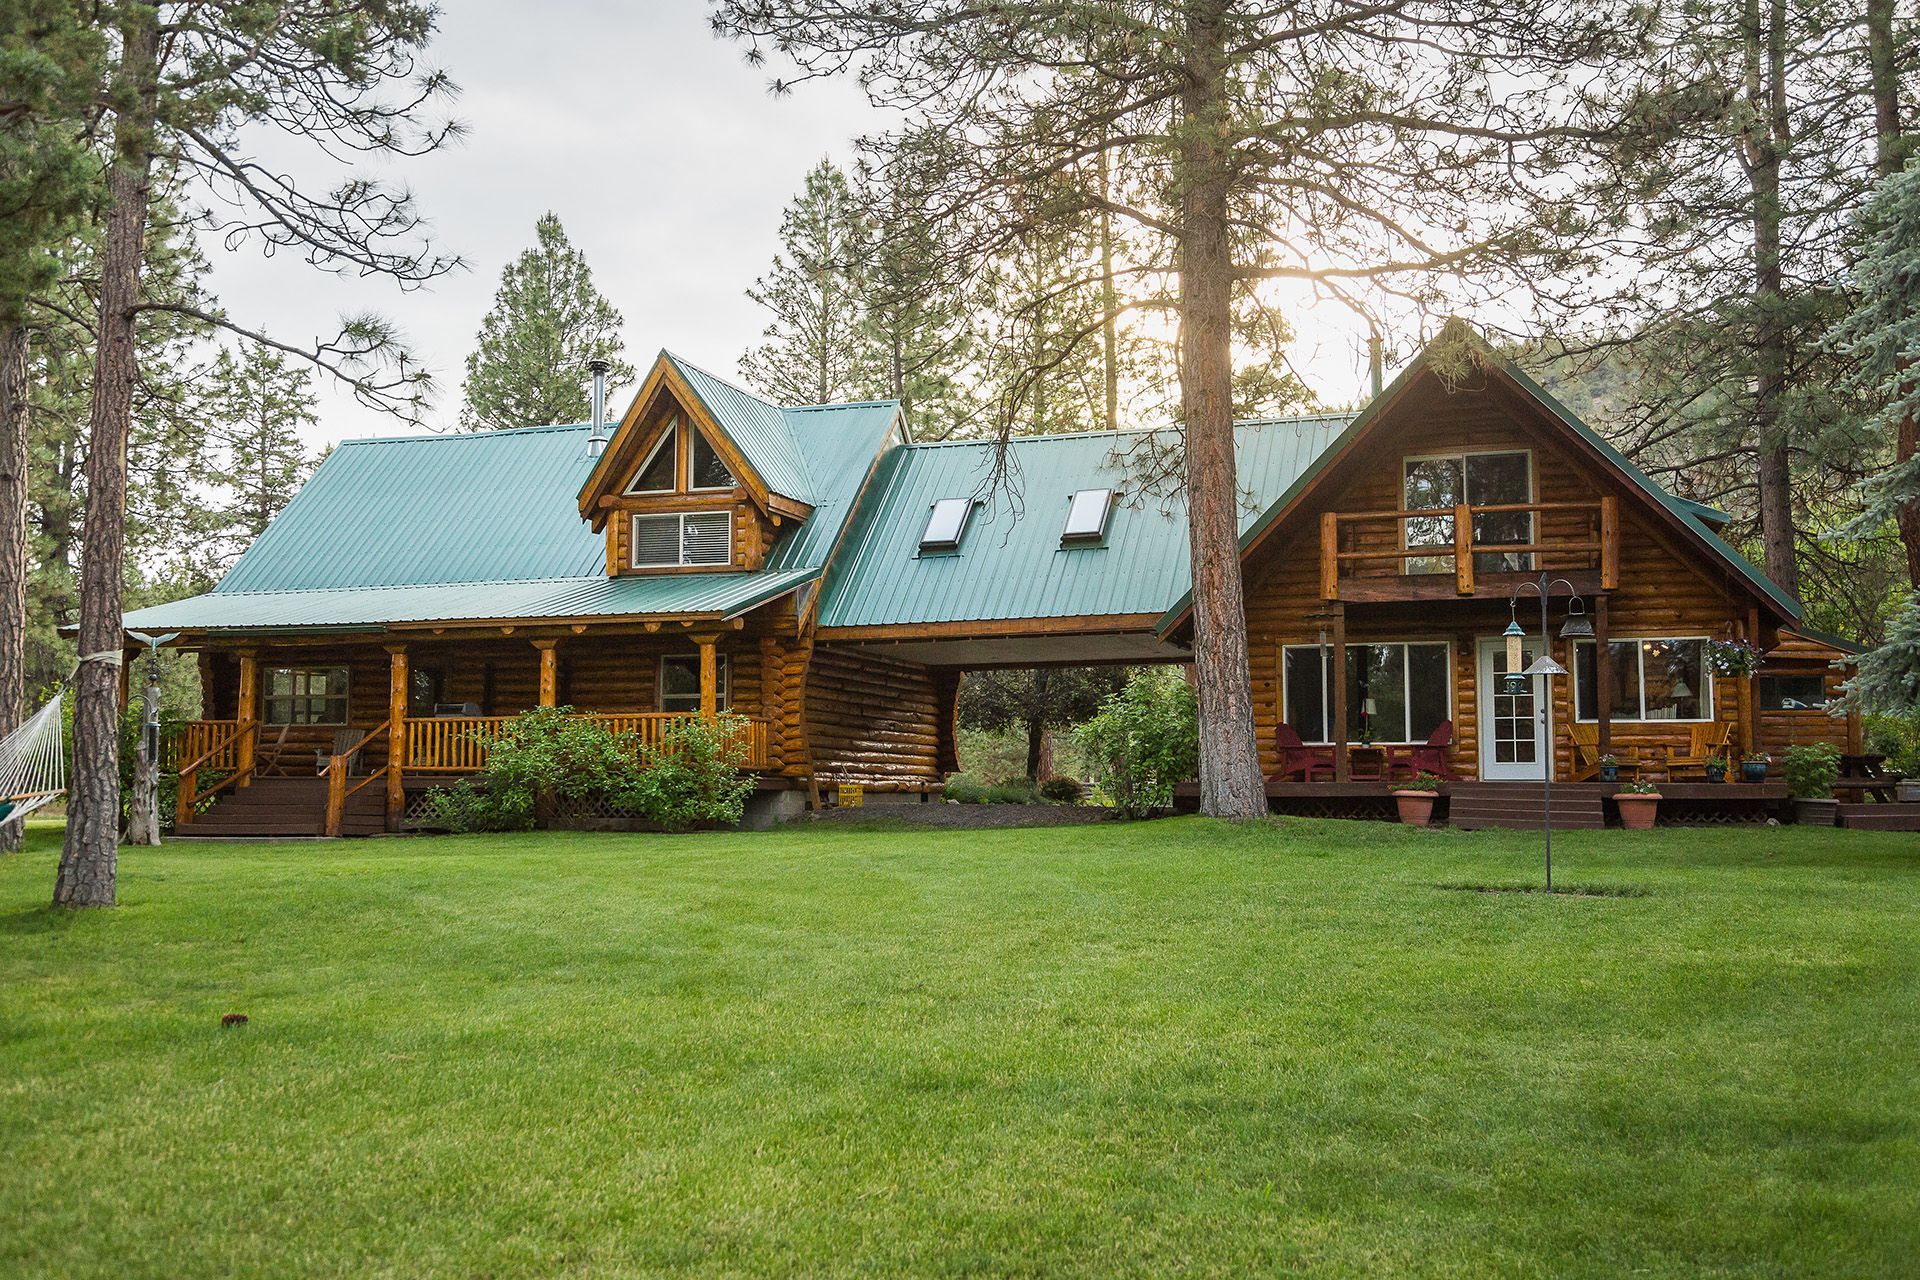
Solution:
<svg viewBox="0 0 1920 1280">
<path fill-rule="evenodd" d="M 1475 516 L 1528 514 L 1524 543 L 1475 541 Z M 1411 543 L 1411 522 L 1452 520 L 1453 541 Z M 1530 568 L 1482 570 L 1476 557 L 1526 557 Z M 1417 560 L 1452 558 L 1452 572 L 1417 572 Z M 1617 497 L 1584 503 L 1459 505 L 1436 510 L 1321 512 L 1319 578 L 1325 601 L 1503 599 L 1542 572 L 1592 595 L 1620 585 L 1620 505 Z"/>
</svg>

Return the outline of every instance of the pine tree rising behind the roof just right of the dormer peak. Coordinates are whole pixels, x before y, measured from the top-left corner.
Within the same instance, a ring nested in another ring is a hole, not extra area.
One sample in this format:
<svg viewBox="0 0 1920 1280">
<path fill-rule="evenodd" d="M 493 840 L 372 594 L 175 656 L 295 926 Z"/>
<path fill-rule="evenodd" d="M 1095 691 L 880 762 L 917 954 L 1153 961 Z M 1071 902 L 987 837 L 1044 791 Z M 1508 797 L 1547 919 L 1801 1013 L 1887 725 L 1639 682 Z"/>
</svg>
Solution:
<svg viewBox="0 0 1920 1280">
<path fill-rule="evenodd" d="M 774 317 L 766 342 L 739 361 L 760 395 L 828 405 L 881 393 L 866 311 L 870 238 L 847 175 L 822 159 L 780 219 L 772 269 L 747 290 Z"/>
</svg>

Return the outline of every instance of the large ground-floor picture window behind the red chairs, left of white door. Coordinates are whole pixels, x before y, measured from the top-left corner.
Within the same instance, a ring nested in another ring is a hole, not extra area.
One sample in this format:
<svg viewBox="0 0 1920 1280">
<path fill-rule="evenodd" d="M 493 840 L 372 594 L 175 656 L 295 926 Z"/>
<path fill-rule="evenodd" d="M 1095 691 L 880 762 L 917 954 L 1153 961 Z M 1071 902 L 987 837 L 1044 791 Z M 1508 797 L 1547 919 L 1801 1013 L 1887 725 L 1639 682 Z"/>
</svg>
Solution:
<svg viewBox="0 0 1920 1280">
<path fill-rule="evenodd" d="M 1331 743 L 1332 651 L 1286 645 L 1281 651 L 1284 718 L 1306 743 Z M 1446 641 L 1348 645 L 1346 737 L 1357 743 L 1425 743 L 1453 712 L 1452 656 Z"/>
</svg>

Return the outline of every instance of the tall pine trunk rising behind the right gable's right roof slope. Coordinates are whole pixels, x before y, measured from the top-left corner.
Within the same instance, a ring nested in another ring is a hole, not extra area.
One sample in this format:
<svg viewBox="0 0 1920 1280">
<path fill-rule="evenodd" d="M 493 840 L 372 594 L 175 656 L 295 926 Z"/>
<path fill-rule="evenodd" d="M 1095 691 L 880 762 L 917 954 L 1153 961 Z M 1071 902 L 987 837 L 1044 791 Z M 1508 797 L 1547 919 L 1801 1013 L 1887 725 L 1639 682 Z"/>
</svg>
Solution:
<svg viewBox="0 0 1920 1280">
<path fill-rule="evenodd" d="M 1793 466 L 1780 420 L 1788 382 L 1788 330 L 1782 324 L 1780 157 L 1788 140 L 1786 0 L 1747 0 L 1747 96 L 1755 125 L 1747 134 L 1753 184 L 1753 439 L 1759 453 L 1761 549 L 1766 576 L 1799 595 L 1793 555 Z"/>
</svg>

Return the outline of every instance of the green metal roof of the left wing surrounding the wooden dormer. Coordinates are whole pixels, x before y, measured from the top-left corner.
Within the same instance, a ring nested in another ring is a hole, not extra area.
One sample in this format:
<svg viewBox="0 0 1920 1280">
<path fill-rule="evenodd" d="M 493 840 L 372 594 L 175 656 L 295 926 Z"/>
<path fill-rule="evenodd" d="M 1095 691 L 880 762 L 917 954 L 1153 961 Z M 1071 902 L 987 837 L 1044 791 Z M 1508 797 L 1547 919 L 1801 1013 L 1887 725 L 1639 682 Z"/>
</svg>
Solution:
<svg viewBox="0 0 1920 1280">
<path fill-rule="evenodd" d="M 138 629 L 363 628 L 459 618 L 722 614 L 820 576 L 893 432 L 887 403 L 781 411 L 814 510 L 751 574 L 607 578 L 574 495 L 588 426 L 349 439 L 207 595 L 127 614 Z"/>
</svg>

